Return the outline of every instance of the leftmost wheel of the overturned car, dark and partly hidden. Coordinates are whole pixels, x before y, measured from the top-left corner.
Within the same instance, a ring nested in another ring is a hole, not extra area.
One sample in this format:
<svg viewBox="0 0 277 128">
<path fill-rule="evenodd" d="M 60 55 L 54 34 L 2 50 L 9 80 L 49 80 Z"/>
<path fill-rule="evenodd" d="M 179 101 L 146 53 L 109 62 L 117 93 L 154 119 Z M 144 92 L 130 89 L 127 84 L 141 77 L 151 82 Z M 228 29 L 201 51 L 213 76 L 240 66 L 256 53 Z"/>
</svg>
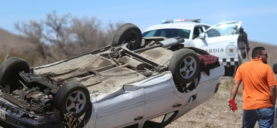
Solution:
<svg viewBox="0 0 277 128">
<path fill-rule="evenodd" d="M 30 73 L 30 66 L 25 60 L 17 57 L 6 59 L 0 66 L 0 85 L 4 92 L 11 93 L 22 87 L 20 72 Z"/>
</svg>

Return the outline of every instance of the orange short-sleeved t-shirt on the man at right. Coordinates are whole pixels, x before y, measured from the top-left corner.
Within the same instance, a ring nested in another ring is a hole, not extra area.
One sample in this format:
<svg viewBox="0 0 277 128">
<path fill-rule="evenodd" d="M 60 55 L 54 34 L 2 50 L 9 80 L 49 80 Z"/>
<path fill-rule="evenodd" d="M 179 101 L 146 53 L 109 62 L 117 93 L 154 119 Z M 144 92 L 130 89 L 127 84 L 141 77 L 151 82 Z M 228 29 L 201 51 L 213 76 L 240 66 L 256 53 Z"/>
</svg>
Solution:
<svg viewBox="0 0 277 128">
<path fill-rule="evenodd" d="M 239 65 L 234 80 L 242 81 L 244 110 L 273 106 L 269 86 L 277 85 L 277 81 L 270 65 L 259 59 L 252 59 Z"/>
</svg>

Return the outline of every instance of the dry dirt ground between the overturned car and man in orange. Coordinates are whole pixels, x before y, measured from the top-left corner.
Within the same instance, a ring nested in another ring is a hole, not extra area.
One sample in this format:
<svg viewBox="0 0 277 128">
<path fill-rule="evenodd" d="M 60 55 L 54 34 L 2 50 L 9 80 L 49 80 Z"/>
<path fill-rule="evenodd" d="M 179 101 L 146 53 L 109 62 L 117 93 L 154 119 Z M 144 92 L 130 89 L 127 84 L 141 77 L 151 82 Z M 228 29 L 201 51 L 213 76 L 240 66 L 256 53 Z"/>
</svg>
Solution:
<svg viewBox="0 0 277 128">
<path fill-rule="evenodd" d="M 232 112 L 229 110 L 228 100 L 230 89 L 232 87 L 232 77 L 222 77 L 220 79 L 220 87 L 218 92 L 204 104 L 196 107 L 183 117 L 168 124 L 165 128 L 180 127 L 242 127 L 242 92 L 241 88 L 238 92 L 235 102 L 237 102 L 238 110 Z M 242 87 L 242 86 L 241 86 Z M 255 127 L 258 127 L 257 124 Z"/>
</svg>

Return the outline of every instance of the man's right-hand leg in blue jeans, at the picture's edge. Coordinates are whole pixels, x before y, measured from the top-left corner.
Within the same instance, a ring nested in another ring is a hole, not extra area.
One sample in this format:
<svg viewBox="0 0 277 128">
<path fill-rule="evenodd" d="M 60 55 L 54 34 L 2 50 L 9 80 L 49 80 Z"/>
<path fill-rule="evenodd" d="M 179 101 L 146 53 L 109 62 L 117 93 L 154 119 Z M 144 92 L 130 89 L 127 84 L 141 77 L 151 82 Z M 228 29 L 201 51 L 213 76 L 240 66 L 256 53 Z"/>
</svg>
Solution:
<svg viewBox="0 0 277 128">
<path fill-rule="evenodd" d="M 273 128 L 273 123 L 274 123 L 274 107 L 271 108 L 264 108 L 257 110 L 259 113 L 259 128 Z"/>
</svg>

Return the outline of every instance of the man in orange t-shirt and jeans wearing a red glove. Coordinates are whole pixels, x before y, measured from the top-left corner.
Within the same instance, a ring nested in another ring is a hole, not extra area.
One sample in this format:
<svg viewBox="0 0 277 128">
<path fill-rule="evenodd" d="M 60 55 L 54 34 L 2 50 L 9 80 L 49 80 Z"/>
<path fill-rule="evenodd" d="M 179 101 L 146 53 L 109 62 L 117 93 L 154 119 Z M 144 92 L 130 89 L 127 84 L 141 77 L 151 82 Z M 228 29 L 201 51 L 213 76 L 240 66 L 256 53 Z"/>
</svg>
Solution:
<svg viewBox="0 0 277 128">
<path fill-rule="evenodd" d="M 239 66 L 234 77 L 230 100 L 234 100 L 243 85 L 243 127 L 273 127 L 277 81 L 264 47 L 252 50 L 252 60 Z M 232 109 L 232 105 L 229 104 Z"/>
</svg>

